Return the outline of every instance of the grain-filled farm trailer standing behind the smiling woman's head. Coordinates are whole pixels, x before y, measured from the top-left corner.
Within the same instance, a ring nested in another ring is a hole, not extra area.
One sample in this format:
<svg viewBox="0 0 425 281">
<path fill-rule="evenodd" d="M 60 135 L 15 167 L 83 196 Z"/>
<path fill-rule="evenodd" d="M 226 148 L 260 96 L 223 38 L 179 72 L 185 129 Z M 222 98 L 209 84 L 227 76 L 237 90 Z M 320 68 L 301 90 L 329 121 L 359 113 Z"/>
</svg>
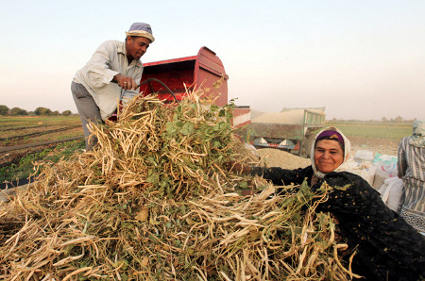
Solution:
<svg viewBox="0 0 425 281">
<path fill-rule="evenodd" d="M 276 148 L 309 156 L 313 133 L 325 124 L 324 108 L 293 108 L 263 113 L 249 125 L 256 148 Z"/>
</svg>

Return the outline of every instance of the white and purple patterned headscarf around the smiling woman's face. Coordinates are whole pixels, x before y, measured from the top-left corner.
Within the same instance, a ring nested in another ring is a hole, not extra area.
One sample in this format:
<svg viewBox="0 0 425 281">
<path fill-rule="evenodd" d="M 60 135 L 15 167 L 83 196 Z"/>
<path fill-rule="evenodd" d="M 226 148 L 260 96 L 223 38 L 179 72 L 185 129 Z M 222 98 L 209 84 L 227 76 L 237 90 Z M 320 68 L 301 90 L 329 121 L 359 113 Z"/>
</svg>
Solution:
<svg viewBox="0 0 425 281">
<path fill-rule="evenodd" d="M 338 168 L 335 169 L 335 171 L 343 171 L 344 170 L 343 164 L 345 161 L 348 160 L 350 156 L 350 150 L 351 150 L 350 141 L 347 139 L 346 136 L 344 136 L 344 134 L 340 130 L 338 130 L 335 127 L 327 127 L 322 129 L 320 132 L 317 133 L 316 137 L 314 138 L 314 142 L 312 143 L 311 153 L 310 153 L 311 166 L 313 167 L 314 174 L 319 178 L 323 178 L 326 174 L 320 172 L 316 168 L 315 161 L 314 161 L 314 148 L 318 140 L 321 140 L 323 138 L 329 138 L 329 137 L 331 139 L 335 139 L 336 141 L 338 141 L 344 150 L 344 161 L 341 163 L 341 165 Z"/>
</svg>

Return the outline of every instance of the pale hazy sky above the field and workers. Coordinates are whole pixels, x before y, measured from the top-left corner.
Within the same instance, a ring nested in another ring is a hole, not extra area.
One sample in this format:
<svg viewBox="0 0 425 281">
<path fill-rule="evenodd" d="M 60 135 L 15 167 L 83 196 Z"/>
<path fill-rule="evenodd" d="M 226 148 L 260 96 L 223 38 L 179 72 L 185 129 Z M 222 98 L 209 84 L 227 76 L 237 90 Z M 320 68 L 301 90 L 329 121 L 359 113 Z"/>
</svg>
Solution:
<svg viewBox="0 0 425 281">
<path fill-rule="evenodd" d="M 425 1 L 18 1 L 0 11 L 0 104 L 76 112 L 74 73 L 100 43 L 151 24 L 150 62 L 217 53 L 229 97 L 260 111 L 425 119 Z"/>
</svg>

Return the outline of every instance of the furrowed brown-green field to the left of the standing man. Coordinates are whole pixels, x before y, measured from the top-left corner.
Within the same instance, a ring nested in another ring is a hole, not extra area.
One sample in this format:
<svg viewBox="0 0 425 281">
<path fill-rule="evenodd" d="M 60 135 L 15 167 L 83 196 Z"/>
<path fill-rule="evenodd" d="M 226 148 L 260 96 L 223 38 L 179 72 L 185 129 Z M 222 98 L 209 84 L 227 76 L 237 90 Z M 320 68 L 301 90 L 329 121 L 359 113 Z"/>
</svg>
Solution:
<svg viewBox="0 0 425 281">
<path fill-rule="evenodd" d="M 16 185 L 36 161 L 57 162 L 84 148 L 78 115 L 0 118 L 0 184 Z"/>
</svg>

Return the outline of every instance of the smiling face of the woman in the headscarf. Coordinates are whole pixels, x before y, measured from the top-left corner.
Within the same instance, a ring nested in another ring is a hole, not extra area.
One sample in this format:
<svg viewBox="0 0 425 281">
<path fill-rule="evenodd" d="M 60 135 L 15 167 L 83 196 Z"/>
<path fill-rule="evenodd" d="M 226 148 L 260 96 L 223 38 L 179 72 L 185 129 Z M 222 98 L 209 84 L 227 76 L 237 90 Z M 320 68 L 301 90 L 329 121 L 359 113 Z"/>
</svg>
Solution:
<svg viewBox="0 0 425 281">
<path fill-rule="evenodd" d="M 335 140 L 320 140 L 314 148 L 314 165 L 322 173 L 330 173 L 344 162 L 344 152 Z"/>
</svg>

